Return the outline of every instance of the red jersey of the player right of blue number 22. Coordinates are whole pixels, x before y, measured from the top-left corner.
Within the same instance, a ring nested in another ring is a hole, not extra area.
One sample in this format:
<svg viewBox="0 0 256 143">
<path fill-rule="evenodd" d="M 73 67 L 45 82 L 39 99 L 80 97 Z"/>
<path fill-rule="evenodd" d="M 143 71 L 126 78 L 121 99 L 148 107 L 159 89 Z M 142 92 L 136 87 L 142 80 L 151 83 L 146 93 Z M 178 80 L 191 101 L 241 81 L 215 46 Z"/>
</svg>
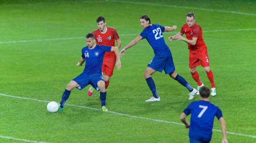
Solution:
<svg viewBox="0 0 256 143">
<path fill-rule="evenodd" d="M 182 25 L 180 32 L 182 34 L 185 33 L 187 39 L 189 40 L 192 40 L 192 37 L 197 38 L 197 42 L 194 46 L 192 44 L 187 43 L 188 49 L 207 48 L 204 39 L 202 38 L 202 28 L 200 27 L 200 25 L 194 23 L 192 27 L 189 27 L 187 23 L 185 23 L 184 25 Z"/>
</svg>

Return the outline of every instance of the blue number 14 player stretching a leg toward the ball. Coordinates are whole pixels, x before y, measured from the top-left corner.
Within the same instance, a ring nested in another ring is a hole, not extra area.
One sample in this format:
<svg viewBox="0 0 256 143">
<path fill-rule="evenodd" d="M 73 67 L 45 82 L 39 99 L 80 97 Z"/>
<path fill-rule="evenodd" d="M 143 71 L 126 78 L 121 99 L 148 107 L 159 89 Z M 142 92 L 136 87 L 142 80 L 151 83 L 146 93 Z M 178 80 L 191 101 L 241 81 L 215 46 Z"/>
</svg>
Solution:
<svg viewBox="0 0 256 143">
<path fill-rule="evenodd" d="M 77 88 L 82 90 L 88 84 L 91 84 L 95 89 L 97 89 L 97 91 L 100 90 L 101 109 L 102 111 L 108 111 L 105 106 L 107 92 L 105 89 L 105 82 L 101 74 L 102 61 L 105 52 L 115 52 L 116 67 L 120 69 L 120 53 L 117 47 L 100 46 L 95 44 L 94 35 L 92 33 L 88 33 L 86 35 L 85 41 L 87 46 L 82 49 L 82 57 L 80 62 L 77 63 L 77 66 L 82 66 L 86 61 L 84 71 L 67 85 L 67 88 L 61 97 L 59 111 L 63 110 L 64 104 L 69 98 L 72 89 Z"/>
</svg>

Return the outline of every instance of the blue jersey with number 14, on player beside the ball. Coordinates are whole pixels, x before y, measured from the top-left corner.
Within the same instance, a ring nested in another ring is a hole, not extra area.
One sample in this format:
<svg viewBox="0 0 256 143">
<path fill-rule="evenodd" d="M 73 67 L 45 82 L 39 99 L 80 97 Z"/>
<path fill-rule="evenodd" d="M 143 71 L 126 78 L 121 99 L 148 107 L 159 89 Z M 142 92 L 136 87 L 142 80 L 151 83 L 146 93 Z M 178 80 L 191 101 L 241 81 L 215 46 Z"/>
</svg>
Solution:
<svg viewBox="0 0 256 143">
<path fill-rule="evenodd" d="M 105 52 L 111 51 L 111 46 L 96 44 L 95 48 L 89 49 L 88 46 L 82 49 L 82 57 L 85 59 L 85 74 L 101 74 L 101 66 Z"/>
</svg>

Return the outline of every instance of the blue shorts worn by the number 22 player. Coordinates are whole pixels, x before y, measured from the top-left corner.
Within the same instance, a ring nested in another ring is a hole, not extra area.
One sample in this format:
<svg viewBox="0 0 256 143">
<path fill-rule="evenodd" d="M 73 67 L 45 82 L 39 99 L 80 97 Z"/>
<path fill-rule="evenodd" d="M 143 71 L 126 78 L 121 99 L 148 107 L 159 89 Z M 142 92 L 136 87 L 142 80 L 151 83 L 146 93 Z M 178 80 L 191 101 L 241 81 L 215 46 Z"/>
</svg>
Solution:
<svg viewBox="0 0 256 143">
<path fill-rule="evenodd" d="M 158 72 L 162 72 L 164 69 L 165 74 L 174 72 L 175 67 L 172 60 L 172 53 L 165 56 L 155 55 L 155 57 L 148 63 L 148 67 L 151 67 Z"/>
</svg>

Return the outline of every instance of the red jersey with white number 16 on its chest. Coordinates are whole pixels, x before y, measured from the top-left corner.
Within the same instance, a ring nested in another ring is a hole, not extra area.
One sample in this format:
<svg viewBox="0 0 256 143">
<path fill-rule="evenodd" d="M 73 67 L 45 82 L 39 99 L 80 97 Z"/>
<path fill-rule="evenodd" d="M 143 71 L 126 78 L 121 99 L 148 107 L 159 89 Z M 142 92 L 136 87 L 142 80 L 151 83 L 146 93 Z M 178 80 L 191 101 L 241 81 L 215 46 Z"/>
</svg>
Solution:
<svg viewBox="0 0 256 143">
<path fill-rule="evenodd" d="M 95 36 L 96 43 L 99 45 L 115 47 L 115 40 L 119 39 L 119 36 L 115 28 L 107 27 L 107 31 L 102 34 L 100 30 L 94 30 L 92 33 Z M 104 57 L 115 57 L 115 52 L 105 52 Z"/>
</svg>

